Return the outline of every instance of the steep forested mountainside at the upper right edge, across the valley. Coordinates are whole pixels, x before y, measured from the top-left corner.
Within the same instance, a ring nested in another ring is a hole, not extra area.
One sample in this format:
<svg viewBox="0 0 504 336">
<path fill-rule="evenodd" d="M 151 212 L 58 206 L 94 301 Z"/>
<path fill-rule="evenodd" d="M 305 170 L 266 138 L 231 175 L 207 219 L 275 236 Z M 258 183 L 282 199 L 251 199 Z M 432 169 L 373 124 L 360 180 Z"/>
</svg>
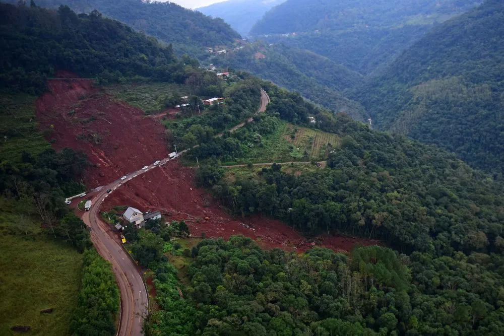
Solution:
<svg viewBox="0 0 504 336">
<path fill-rule="evenodd" d="M 501 174 L 504 4 L 490 0 L 427 34 L 355 92 L 380 129 L 455 152 Z"/>
</svg>

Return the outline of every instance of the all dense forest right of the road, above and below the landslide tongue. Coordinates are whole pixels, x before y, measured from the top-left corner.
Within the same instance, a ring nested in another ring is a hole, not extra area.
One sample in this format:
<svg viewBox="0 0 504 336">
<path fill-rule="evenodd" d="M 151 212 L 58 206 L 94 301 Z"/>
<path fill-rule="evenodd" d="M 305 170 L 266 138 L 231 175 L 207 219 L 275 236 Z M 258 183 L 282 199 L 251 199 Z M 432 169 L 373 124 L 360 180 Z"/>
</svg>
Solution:
<svg viewBox="0 0 504 336">
<path fill-rule="evenodd" d="M 271 97 L 267 115 L 203 140 L 195 150 L 207 164 L 197 182 L 238 216 L 262 213 L 308 233 L 380 238 L 401 254 L 374 246 L 350 256 L 318 248 L 297 255 L 262 251 L 243 237 L 203 240 L 191 252 L 167 252 L 186 258 L 179 272 L 188 280 L 180 283 L 163 255 L 171 236 L 147 229 L 141 244 L 152 252 L 143 262 L 156 274 L 162 309 L 148 317 L 146 334 L 499 334 L 502 185 L 436 147 L 261 86 Z M 327 168 L 295 176 L 274 164 L 227 180 L 212 164 L 271 131 L 274 118 L 308 125 L 309 115 L 342 138 Z"/>
</svg>

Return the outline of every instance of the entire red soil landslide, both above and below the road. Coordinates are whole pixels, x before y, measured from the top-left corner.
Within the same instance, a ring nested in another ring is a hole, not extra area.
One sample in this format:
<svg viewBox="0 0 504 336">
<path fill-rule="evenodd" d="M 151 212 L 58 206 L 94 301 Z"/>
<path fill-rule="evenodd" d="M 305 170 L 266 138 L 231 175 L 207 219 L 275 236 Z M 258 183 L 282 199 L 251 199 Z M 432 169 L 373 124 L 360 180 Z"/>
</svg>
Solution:
<svg viewBox="0 0 504 336">
<path fill-rule="evenodd" d="M 58 78 L 77 76 L 59 73 Z M 146 117 L 141 109 L 114 101 L 93 88 L 91 80 L 51 80 L 48 87 L 50 92 L 36 102 L 37 118 L 43 130 L 51 130 L 48 139 L 55 140 L 54 149 L 69 147 L 87 154 L 91 163 L 85 174 L 88 190 L 168 156 L 164 127 L 155 120 L 166 113 Z M 193 236 L 205 232 L 209 238 L 228 239 L 242 234 L 264 248 L 301 252 L 324 246 L 350 251 L 356 244 L 377 243 L 343 236 L 307 239 L 277 220 L 259 216 L 232 218 L 210 195 L 196 188 L 193 170 L 181 166 L 178 160 L 117 188 L 102 208 L 108 210 L 117 205 L 137 207 L 144 212 L 160 210 L 168 221 L 186 221 Z"/>
</svg>

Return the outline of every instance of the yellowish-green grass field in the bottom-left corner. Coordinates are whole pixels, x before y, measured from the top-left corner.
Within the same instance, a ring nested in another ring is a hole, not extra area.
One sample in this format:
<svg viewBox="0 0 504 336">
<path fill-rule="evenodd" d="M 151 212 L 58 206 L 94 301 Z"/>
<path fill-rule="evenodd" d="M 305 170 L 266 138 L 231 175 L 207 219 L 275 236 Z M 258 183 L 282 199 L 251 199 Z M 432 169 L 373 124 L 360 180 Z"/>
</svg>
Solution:
<svg viewBox="0 0 504 336">
<path fill-rule="evenodd" d="M 26 325 L 27 335 L 69 335 L 82 256 L 48 238 L 33 214 L 29 204 L 0 198 L 0 334 Z M 40 312 L 47 308 L 54 311 Z"/>
</svg>

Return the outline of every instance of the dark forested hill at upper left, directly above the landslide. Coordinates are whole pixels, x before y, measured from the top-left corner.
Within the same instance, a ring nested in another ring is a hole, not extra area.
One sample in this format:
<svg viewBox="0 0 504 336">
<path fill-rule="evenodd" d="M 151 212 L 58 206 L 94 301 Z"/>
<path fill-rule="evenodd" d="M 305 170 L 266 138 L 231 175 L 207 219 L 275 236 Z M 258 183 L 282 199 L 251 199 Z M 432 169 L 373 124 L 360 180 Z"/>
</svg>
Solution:
<svg viewBox="0 0 504 336">
<path fill-rule="evenodd" d="M 98 77 L 103 83 L 124 78 L 151 78 L 183 82 L 183 63 L 171 46 L 103 18 L 36 7 L 0 5 L 0 86 L 10 90 L 40 92 L 55 70 L 82 77 Z"/>
</svg>

